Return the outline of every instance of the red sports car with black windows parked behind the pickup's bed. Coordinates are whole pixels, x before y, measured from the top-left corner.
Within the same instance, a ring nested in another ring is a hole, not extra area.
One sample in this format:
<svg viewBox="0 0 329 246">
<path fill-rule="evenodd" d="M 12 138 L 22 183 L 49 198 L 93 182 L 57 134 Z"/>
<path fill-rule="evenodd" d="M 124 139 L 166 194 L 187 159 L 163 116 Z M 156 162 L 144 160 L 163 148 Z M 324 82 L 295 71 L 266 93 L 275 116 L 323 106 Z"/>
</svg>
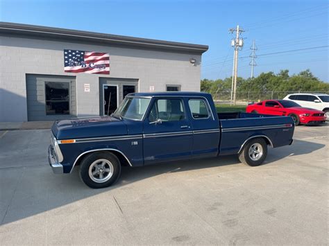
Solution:
<svg viewBox="0 0 329 246">
<path fill-rule="evenodd" d="M 295 125 L 317 125 L 326 123 L 322 111 L 301 107 L 292 100 L 264 100 L 246 107 L 247 113 L 292 116 Z"/>
</svg>

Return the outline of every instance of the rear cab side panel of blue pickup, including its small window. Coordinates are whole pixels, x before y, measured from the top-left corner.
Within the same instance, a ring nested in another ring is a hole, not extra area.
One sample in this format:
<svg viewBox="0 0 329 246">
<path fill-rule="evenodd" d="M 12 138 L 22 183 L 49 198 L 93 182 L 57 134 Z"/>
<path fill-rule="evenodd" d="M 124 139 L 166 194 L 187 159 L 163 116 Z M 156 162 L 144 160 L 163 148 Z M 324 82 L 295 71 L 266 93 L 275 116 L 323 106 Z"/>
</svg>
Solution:
<svg viewBox="0 0 329 246">
<path fill-rule="evenodd" d="M 205 98 L 187 98 L 189 117 L 192 122 L 193 146 L 192 157 L 217 156 L 220 130 L 217 117 L 212 113 Z"/>
</svg>

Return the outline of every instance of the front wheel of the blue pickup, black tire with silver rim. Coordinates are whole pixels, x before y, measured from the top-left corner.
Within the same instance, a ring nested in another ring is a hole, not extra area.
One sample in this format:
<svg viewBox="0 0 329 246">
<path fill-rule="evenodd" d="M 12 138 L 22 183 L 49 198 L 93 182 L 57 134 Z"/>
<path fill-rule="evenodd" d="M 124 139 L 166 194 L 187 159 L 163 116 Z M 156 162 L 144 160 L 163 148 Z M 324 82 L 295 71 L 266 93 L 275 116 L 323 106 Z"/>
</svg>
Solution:
<svg viewBox="0 0 329 246">
<path fill-rule="evenodd" d="M 105 188 L 117 181 L 121 165 L 119 159 L 110 152 L 94 152 L 83 158 L 79 173 L 90 188 Z"/>
</svg>

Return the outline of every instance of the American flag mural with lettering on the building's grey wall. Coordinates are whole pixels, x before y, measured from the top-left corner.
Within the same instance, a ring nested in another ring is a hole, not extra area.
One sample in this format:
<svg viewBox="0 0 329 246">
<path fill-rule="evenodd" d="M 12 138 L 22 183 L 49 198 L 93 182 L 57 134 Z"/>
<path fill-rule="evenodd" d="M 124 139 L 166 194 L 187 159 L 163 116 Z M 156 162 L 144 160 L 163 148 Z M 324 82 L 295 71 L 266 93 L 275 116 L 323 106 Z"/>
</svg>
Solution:
<svg viewBox="0 0 329 246">
<path fill-rule="evenodd" d="M 67 73 L 110 74 L 110 54 L 65 49 L 64 71 Z"/>
</svg>

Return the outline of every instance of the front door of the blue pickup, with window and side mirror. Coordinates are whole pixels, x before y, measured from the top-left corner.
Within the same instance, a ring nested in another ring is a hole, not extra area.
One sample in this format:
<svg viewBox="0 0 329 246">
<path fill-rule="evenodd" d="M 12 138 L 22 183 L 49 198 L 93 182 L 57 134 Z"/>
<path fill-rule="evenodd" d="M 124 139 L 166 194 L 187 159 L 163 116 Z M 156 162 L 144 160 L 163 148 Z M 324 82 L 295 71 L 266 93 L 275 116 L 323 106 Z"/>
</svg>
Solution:
<svg viewBox="0 0 329 246">
<path fill-rule="evenodd" d="M 192 129 L 183 99 L 153 98 L 144 119 L 144 164 L 188 159 L 192 152 Z"/>
</svg>

